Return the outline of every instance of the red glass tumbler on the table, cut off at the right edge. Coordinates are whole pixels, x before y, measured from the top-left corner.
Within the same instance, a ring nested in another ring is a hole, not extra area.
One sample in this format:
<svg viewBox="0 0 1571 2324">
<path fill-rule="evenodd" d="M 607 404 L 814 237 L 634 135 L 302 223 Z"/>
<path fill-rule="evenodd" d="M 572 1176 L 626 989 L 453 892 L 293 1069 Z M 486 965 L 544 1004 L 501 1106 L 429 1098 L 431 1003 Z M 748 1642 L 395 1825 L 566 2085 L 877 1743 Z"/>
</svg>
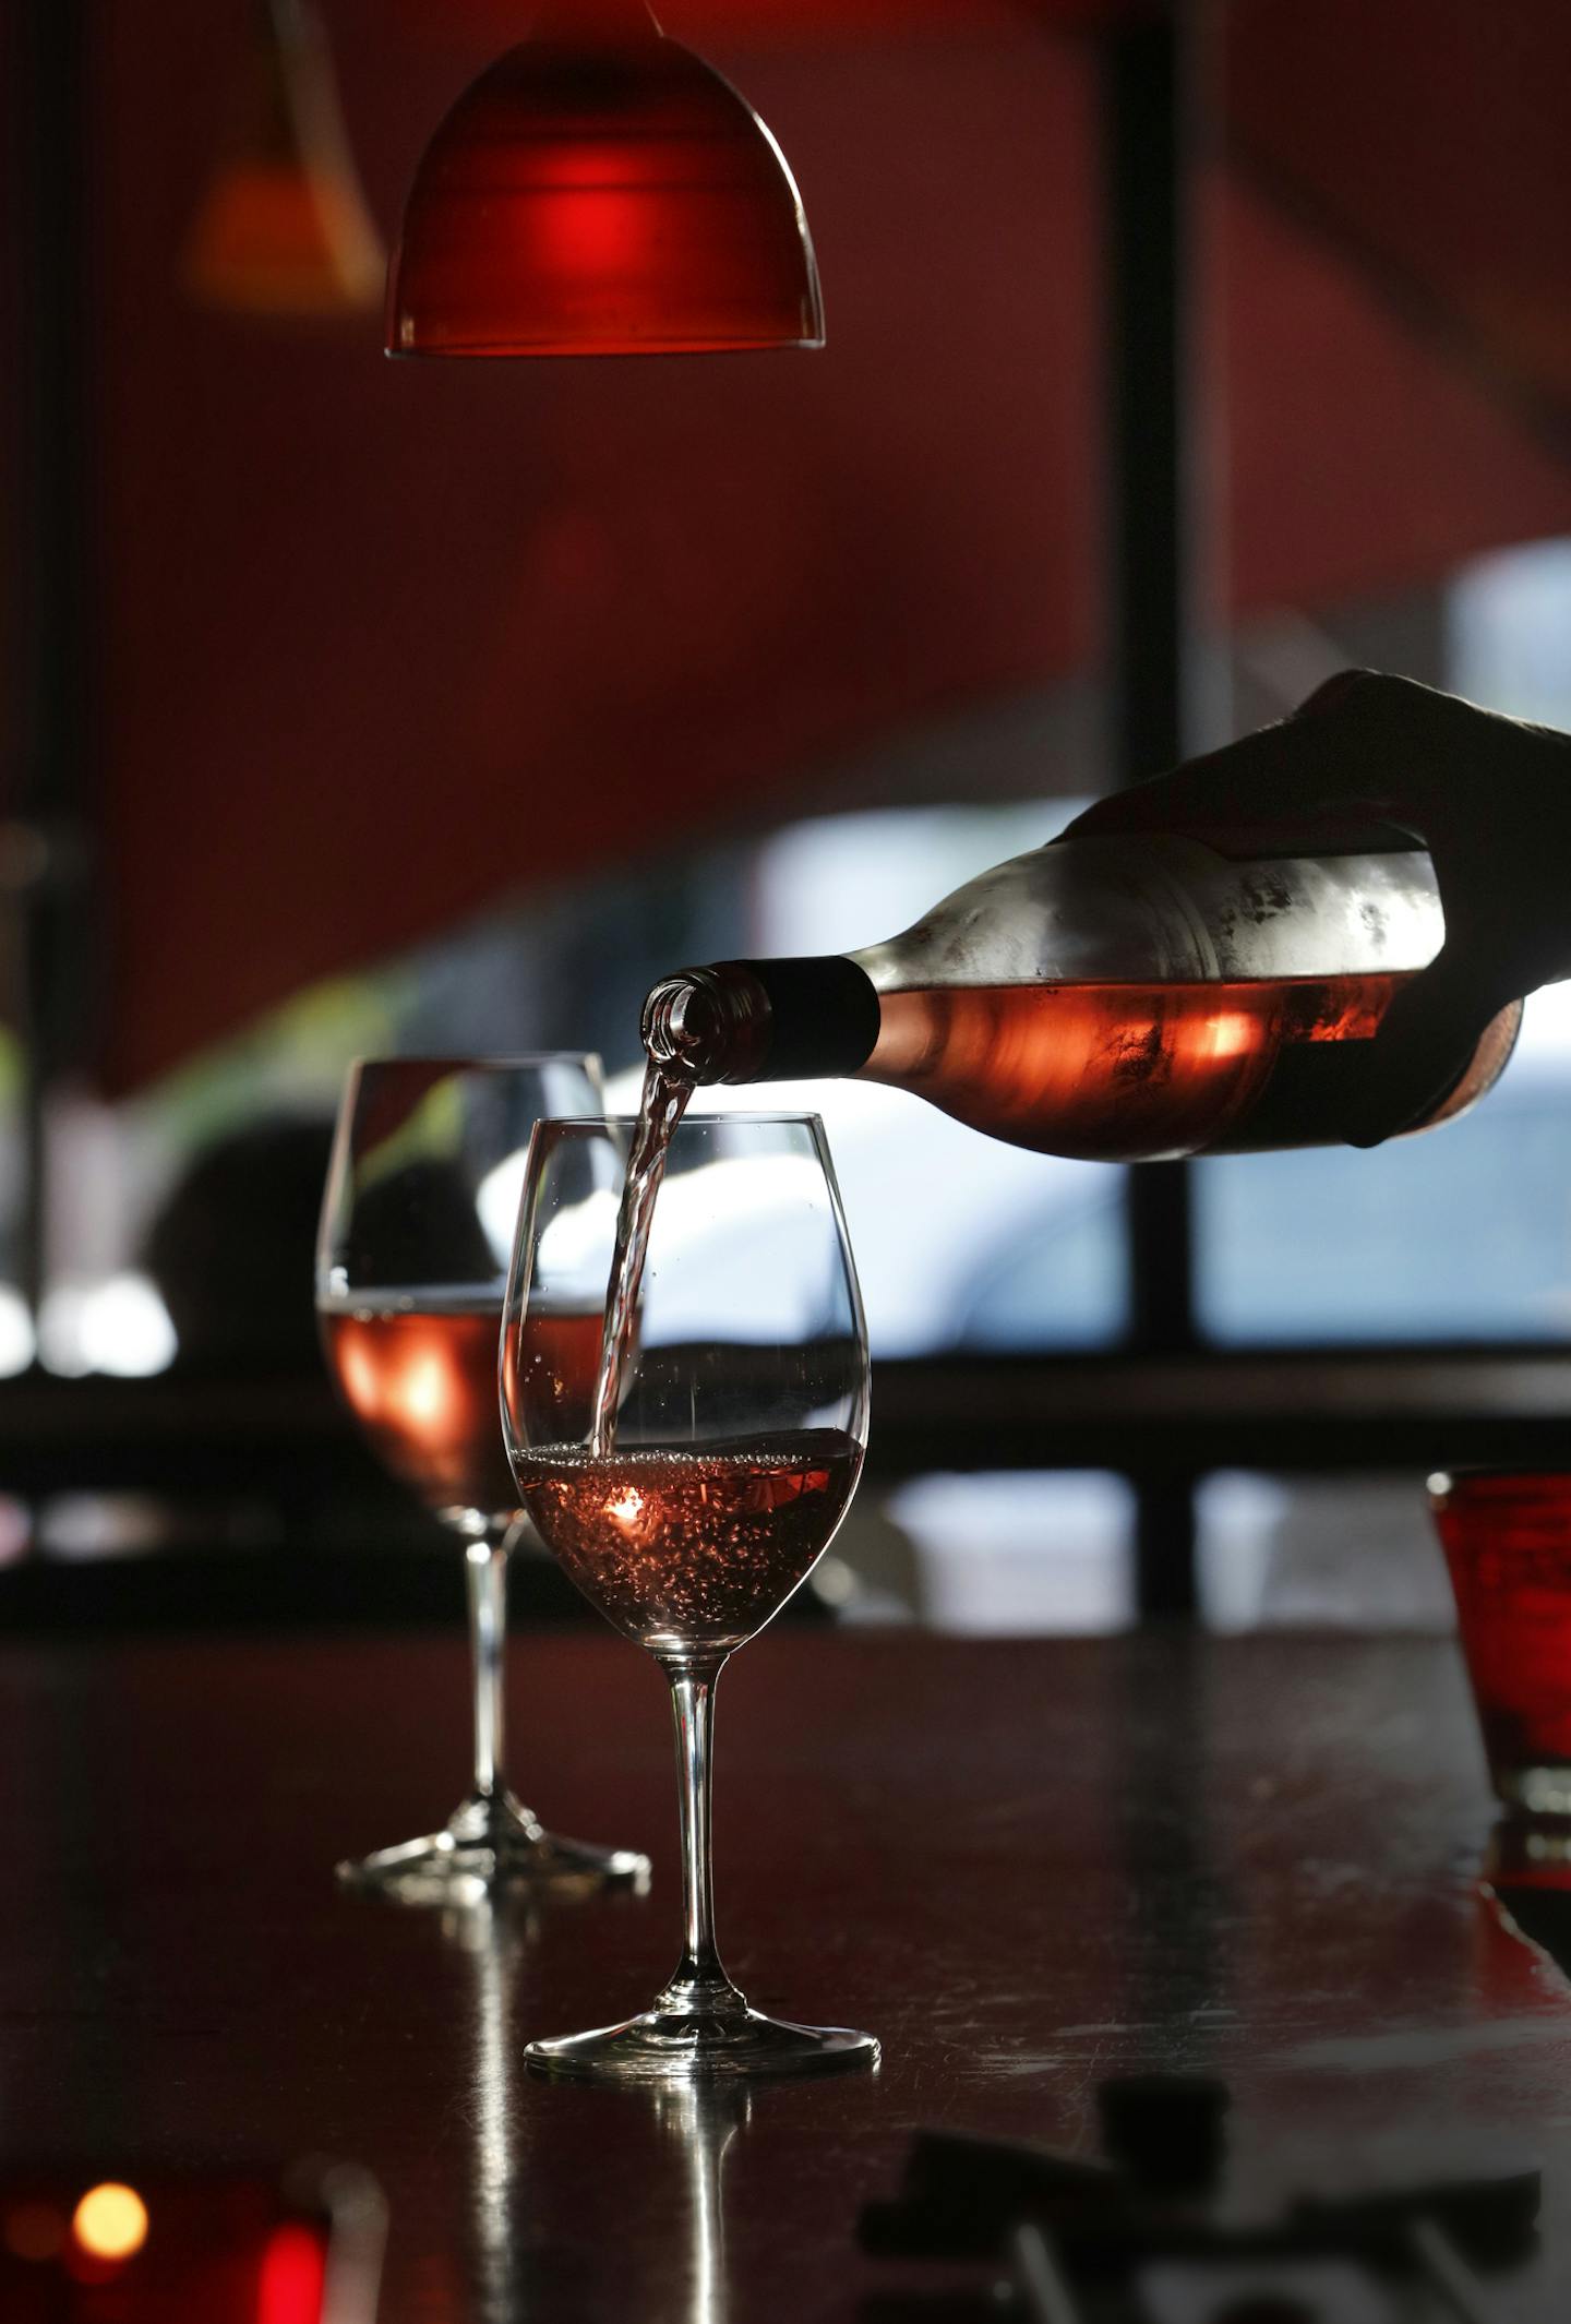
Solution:
<svg viewBox="0 0 1571 2324">
<path fill-rule="evenodd" d="M 1571 1471 L 1459 1469 L 1429 1506 L 1494 1789 L 1571 1817 Z"/>
</svg>

